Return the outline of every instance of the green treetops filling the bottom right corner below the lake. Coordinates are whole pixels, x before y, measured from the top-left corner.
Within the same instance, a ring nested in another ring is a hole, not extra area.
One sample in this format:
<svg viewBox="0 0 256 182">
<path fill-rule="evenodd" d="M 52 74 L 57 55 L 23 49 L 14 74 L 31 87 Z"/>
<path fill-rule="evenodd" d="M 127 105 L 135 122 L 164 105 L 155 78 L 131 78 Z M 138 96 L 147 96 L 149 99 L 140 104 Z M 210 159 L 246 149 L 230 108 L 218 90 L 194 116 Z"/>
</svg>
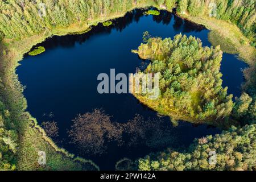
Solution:
<svg viewBox="0 0 256 182">
<path fill-rule="evenodd" d="M 241 129 L 236 127 L 217 134 L 195 139 L 188 151 L 177 152 L 171 148 L 156 154 L 150 154 L 139 159 L 129 168 L 139 170 L 255 170 L 256 160 L 256 125 L 246 125 Z M 209 152 L 216 152 L 212 164 L 209 163 Z"/>
</svg>

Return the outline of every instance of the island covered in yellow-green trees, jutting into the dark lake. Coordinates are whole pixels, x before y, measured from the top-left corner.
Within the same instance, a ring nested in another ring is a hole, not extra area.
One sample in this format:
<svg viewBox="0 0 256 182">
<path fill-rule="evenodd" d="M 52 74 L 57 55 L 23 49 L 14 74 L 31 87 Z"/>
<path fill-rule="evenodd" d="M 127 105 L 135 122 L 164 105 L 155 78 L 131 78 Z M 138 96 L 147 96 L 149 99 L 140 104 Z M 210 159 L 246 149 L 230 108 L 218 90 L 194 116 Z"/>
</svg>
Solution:
<svg viewBox="0 0 256 182">
<path fill-rule="evenodd" d="M 221 86 L 220 47 L 203 47 L 201 40 L 181 34 L 173 40 L 147 37 L 148 34 L 143 38 L 146 44 L 133 52 L 142 59 L 151 60 L 144 73 L 160 73 L 160 97 L 157 100 L 150 100 L 150 94 L 135 94 L 135 97 L 172 120 L 222 122 L 232 114 L 233 96 L 228 96 L 228 88 Z M 247 94 L 237 102 L 237 117 L 247 110 L 254 112 L 254 107 L 250 106 L 252 98 Z M 247 102 L 246 106 L 241 102 Z"/>
</svg>

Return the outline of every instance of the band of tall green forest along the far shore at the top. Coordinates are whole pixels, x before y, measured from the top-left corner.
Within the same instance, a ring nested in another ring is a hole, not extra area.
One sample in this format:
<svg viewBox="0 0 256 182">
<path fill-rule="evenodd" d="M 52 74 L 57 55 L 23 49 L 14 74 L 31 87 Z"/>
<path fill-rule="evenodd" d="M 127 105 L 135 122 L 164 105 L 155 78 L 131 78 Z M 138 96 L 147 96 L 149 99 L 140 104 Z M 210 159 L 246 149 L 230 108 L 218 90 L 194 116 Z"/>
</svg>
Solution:
<svg viewBox="0 0 256 182">
<path fill-rule="evenodd" d="M 5 0 L 0 2 L 0 39 L 1 34 L 20 39 L 55 27 L 125 13 L 134 5 L 158 4 L 169 11 L 177 7 L 179 13 L 192 16 L 208 16 L 211 11 L 216 11 L 214 17 L 236 24 L 256 46 L 255 3 L 254 0 Z"/>
</svg>

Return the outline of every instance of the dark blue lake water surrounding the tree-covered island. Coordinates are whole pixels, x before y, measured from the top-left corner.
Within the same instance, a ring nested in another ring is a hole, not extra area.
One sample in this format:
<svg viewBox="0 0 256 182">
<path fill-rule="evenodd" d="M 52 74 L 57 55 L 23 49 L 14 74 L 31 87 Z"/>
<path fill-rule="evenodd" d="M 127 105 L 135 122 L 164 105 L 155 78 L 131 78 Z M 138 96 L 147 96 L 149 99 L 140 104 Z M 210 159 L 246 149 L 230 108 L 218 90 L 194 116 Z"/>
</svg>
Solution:
<svg viewBox="0 0 256 182">
<path fill-rule="evenodd" d="M 175 142 L 166 146 L 152 148 L 118 147 L 109 145 L 106 154 L 101 156 L 79 152 L 76 146 L 69 143 L 67 130 L 77 114 L 84 114 L 94 108 L 102 108 L 112 115 L 112 121 L 126 122 L 140 114 L 144 118 L 159 118 L 155 111 L 147 109 L 131 94 L 99 94 L 97 76 L 100 73 L 134 73 L 143 68 L 145 62 L 138 55 L 131 53 L 142 43 L 144 31 L 152 36 L 173 38 L 176 34 L 193 35 L 200 38 L 203 46 L 210 46 L 208 30 L 174 14 L 161 11 L 159 16 L 143 15 L 143 11 L 134 10 L 123 18 L 114 20 L 110 27 L 102 24 L 93 27 L 82 35 L 53 36 L 38 46 L 44 46 L 46 52 L 37 56 L 25 56 L 20 61 L 16 73 L 20 82 L 26 86 L 24 96 L 27 98 L 27 110 L 39 123 L 57 122 L 59 126 L 59 146 L 84 158 L 92 159 L 101 169 L 114 169 L 117 160 L 124 157 L 136 159 L 152 151 L 167 147 L 188 146 L 194 138 L 208 134 L 220 133 L 220 130 L 206 125 L 195 126 L 180 122 L 173 127 L 169 118 L 160 118 L 168 134 Z M 241 69 L 246 64 L 234 55 L 224 53 L 221 63 L 223 86 L 228 86 L 228 93 L 240 96 L 240 85 L 243 82 Z M 51 113 L 51 114 L 50 114 Z M 49 117 L 51 115 L 51 117 Z M 145 126 L 147 127 L 147 126 Z"/>
</svg>

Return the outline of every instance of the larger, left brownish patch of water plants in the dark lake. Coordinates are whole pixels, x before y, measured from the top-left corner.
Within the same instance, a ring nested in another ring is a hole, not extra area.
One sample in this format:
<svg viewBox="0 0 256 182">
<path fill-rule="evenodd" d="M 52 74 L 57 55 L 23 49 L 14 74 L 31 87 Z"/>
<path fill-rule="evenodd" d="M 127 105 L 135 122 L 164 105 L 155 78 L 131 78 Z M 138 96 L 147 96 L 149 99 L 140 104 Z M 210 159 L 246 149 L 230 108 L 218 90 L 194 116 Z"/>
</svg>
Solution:
<svg viewBox="0 0 256 182">
<path fill-rule="evenodd" d="M 72 143 L 77 145 L 80 152 L 92 155 L 103 154 L 108 142 L 121 141 L 121 133 L 118 123 L 111 122 L 110 116 L 100 109 L 77 115 L 68 131 Z"/>
</svg>

